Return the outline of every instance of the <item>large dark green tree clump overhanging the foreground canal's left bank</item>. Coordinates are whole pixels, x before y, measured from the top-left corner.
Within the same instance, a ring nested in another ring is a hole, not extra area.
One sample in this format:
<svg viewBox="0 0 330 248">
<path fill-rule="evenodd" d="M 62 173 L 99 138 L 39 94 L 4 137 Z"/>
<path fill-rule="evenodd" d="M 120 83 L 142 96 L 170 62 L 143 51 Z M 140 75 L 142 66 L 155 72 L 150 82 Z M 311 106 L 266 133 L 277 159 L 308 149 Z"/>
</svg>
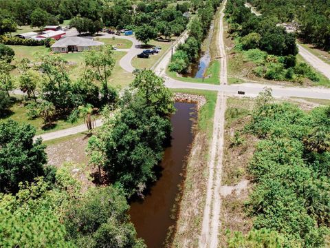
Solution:
<svg viewBox="0 0 330 248">
<path fill-rule="evenodd" d="M 106 121 L 88 145 L 89 163 L 102 167 L 127 198 L 142 195 L 156 179 L 154 168 L 171 130 L 168 114 L 174 112 L 170 91 L 153 72 L 138 73 L 130 89 L 122 96 L 120 113 L 109 118 L 104 112 Z"/>
</svg>

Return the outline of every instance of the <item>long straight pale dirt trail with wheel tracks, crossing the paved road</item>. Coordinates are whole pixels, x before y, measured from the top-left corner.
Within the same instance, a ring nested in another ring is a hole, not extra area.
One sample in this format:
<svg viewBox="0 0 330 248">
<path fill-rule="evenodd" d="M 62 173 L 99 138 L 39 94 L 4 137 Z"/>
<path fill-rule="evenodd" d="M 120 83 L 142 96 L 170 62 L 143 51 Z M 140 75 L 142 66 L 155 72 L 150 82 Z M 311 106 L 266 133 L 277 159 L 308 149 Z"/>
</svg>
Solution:
<svg viewBox="0 0 330 248">
<path fill-rule="evenodd" d="M 228 83 L 227 77 L 227 56 L 223 42 L 223 17 L 225 3 L 221 8 L 221 18 L 219 25 L 219 50 L 221 54 L 220 84 Z M 210 161 L 208 163 L 208 185 L 206 191 L 206 205 L 203 211 L 203 222 L 199 247 L 216 248 L 218 246 L 218 234 L 221 223 L 219 221 L 221 210 L 221 170 L 223 156 L 223 136 L 225 125 L 225 103 L 226 97 L 223 92 L 218 92 L 217 104 L 214 110 L 214 124 L 212 143 L 210 149 Z"/>
</svg>

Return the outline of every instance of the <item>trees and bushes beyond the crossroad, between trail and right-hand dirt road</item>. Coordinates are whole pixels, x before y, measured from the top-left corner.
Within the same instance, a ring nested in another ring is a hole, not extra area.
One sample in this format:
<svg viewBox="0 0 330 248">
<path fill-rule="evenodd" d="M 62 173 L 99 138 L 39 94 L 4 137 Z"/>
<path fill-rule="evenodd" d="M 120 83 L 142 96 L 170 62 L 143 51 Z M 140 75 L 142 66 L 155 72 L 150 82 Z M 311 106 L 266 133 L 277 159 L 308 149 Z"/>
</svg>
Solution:
<svg viewBox="0 0 330 248">
<path fill-rule="evenodd" d="M 234 39 L 230 70 L 248 78 L 290 81 L 298 85 L 330 85 L 313 68 L 297 61 L 296 35 L 276 25 L 277 19 L 252 14 L 244 1 L 228 1 L 228 33 Z"/>
</svg>

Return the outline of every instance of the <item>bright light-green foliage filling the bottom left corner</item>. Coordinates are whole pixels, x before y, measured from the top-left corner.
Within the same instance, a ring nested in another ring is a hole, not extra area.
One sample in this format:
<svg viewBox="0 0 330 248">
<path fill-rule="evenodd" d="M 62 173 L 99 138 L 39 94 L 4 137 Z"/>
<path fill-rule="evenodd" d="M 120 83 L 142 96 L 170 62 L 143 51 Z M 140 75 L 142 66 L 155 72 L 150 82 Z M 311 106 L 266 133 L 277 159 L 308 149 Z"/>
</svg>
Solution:
<svg viewBox="0 0 330 248">
<path fill-rule="evenodd" d="M 21 185 L 16 196 L 0 195 L 1 247 L 74 247 L 56 214 L 57 200 L 43 178 Z"/>
</svg>

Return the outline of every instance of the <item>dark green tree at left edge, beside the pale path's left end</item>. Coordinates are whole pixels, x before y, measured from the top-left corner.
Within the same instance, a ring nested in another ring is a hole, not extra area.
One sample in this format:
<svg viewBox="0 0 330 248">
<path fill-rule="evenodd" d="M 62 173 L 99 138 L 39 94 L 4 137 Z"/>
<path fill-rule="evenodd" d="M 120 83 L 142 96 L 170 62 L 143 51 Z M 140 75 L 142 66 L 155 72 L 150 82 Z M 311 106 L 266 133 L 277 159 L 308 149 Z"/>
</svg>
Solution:
<svg viewBox="0 0 330 248">
<path fill-rule="evenodd" d="M 33 141 L 35 132 L 16 121 L 0 123 L 0 192 L 17 192 L 20 182 L 45 175 L 45 145 Z"/>
</svg>

